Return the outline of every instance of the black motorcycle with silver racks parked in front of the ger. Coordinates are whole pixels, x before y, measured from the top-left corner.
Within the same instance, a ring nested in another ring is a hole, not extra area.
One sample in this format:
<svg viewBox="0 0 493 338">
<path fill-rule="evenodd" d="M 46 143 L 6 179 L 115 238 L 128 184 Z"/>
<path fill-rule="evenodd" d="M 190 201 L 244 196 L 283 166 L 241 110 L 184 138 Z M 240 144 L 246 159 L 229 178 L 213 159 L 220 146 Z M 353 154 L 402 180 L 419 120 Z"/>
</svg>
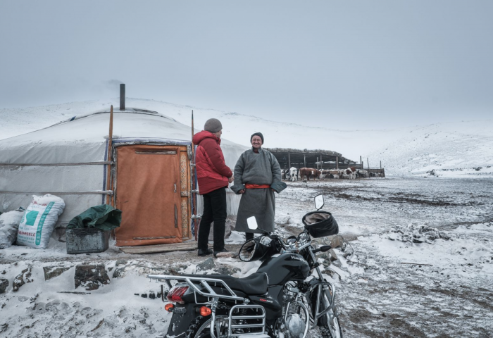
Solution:
<svg viewBox="0 0 493 338">
<path fill-rule="evenodd" d="M 311 237 L 337 234 L 339 228 L 331 213 L 320 211 L 323 196 L 314 201 L 317 211 L 304 215 L 304 231 L 297 237 L 285 242 L 264 233 L 242 245 L 242 261 L 262 261 L 247 277 L 147 275 L 169 290 L 171 303 L 165 309 L 173 315 L 166 337 L 305 338 L 318 326 L 323 338 L 342 338 L 335 287 L 316 259 L 316 253 L 331 246 L 315 249 L 311 242 Z M 247 223 L 258 229 L 255 218 Z"/>
</svg>

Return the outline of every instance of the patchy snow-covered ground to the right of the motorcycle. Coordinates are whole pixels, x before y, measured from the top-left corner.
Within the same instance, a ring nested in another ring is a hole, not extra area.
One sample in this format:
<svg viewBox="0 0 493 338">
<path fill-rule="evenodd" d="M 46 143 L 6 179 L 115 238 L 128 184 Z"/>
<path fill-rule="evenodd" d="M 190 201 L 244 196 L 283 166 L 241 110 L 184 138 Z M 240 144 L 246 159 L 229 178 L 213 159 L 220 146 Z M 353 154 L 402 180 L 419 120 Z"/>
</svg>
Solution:
<svg viewBox="0 0 493 338">
<path fill-rule="evenodd" d="M 332 180 L 288 189 L 278 201 L 293 222 L 303 201 L 323 192 L 340 233 L 356 238 L 347 250 L 354 254 L 337 251 L 333 268 L 344 337 L 492 337 L 493 180 Z M 399 241 L 420 226 L 450 239 Z"/>
</svg>

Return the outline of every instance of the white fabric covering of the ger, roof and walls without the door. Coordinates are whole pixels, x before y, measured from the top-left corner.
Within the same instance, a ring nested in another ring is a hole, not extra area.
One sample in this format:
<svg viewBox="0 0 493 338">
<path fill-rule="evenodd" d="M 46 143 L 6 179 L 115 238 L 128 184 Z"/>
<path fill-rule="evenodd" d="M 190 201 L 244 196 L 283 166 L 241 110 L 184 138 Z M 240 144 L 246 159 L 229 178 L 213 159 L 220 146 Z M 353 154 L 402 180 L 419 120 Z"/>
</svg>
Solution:
<svg viewBox="0 0 493 338">
<path fill-rule="evenodd" d="M 104 203 L 109 109 L 78 115 L 16 137 L 0 140 L 0 211 L 26 207 L 33 194 L 53 193 L 65 200 L 58 225 L 90 206 Z M 116 109 L 113 143 L 191 144 L 191 127 L 154 111 Z M 225 161 L 234 168 L 245 146 L 223 139 Z M 238 196 L 228 194 L 228 214 Z"/>
</svg>

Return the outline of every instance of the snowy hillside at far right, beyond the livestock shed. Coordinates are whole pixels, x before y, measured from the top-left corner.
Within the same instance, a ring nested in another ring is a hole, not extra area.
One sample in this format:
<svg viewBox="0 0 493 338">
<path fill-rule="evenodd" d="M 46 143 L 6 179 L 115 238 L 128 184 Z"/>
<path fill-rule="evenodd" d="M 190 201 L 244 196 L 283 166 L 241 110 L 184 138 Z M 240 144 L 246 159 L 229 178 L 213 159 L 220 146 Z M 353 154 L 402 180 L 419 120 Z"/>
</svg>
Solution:
<svg viewBox="0 0 493 338">
<path fill-rule="evenodd" d="M 493 175 L 493 120 L 407 128 L 397 142 L 371 152 L 393 175 Z"/>
</svg>

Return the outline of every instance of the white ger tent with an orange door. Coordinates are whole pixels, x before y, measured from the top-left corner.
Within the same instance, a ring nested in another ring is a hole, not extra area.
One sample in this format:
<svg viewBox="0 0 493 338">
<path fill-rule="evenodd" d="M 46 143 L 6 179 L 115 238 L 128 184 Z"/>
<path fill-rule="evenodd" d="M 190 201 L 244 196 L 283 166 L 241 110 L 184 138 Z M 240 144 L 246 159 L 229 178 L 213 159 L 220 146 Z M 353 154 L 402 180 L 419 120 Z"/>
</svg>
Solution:
<svg viewBox="0 0 493 338">
<path fill-rule="evenodd" d="M 117 245 L 192 238 L 191 127 L 155 111 L 116 109 L 108 161 L 109 112 L 0 140 L 0 211 L 27 207 L 32 195 L 50 193 L 65 200 L 57 224 L 64 227 L 87 208 L 109 201 L 123 211 Z M 221 148 L 230 168 L 246 149 L 226 139 Z M 237 213 L 238 204 L 239 196 L 228 189 L 228 215 Z"/>
</svg>

